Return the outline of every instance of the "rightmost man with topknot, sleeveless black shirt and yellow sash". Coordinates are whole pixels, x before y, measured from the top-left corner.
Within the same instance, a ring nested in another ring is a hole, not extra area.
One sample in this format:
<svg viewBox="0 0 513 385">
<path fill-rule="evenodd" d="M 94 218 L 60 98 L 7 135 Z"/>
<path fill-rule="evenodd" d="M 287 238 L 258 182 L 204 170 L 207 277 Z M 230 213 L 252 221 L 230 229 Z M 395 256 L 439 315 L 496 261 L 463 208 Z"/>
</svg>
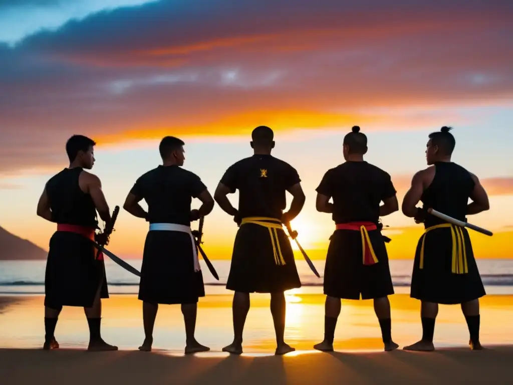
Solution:
<svg viewBox="0 0 513 385">
<path fill-rule="evenodd" d="M 479 179 L 460 165 L 451 162 L 456 140 L 450 127 L 429 135 L 426 160 L 430 166 L 413 176 L 403 200 L 407 217 L 424 223 L 425 233 L 419 240 L 413 273 L 411 297 L 422 301 L 422 339 L 405 350 L 433 351 L 433 333 L 438 304 L 461 304 L 470 333 L 470 347 L 482 349 L 479 342 L 479 298 L 486 295 L 464 227 L 446 223 L 427 214 L 432 208 L 449 217 L 466 222 L 466 216 L 489 209 L 488 196 Z M 472 203 L 468 204 L 468 199 Z M 422 201 L 423 208 L 416 207 Z"/>
</svg>

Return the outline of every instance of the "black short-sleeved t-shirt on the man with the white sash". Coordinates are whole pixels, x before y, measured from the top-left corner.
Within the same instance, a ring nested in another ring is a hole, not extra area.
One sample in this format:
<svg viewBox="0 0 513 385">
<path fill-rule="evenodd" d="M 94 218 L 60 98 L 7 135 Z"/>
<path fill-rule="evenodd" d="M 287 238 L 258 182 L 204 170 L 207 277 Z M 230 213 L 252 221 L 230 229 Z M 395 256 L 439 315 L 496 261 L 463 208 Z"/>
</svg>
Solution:
<svg viewBox="0 0 513 385">
<path fill-rule="evenodd" d="M 130 192 L 148 204 L 150 223 L 190 226 L 192 198 L 198 198 L 206 189 L 193 172 L 160 165 L 137 179 Z"/>
</svg>

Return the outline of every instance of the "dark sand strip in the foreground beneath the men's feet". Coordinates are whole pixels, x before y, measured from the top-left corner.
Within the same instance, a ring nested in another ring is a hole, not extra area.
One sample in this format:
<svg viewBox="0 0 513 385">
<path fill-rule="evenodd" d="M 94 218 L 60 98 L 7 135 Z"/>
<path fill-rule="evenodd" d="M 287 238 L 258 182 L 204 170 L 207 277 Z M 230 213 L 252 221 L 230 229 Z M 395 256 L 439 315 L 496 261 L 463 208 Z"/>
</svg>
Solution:
<svg viewBox="0 0 513 385">
<path fill-rule="evenodd" d="M 302 353 L 302 352 L 300 352 Z M 11 384 L 390 384 L 489 383 L 511 379 L 512 347 L 433 353 L 312 353 L 268 357 L 173 357 L 161 352 L 0 350 Z"/>
</svg>

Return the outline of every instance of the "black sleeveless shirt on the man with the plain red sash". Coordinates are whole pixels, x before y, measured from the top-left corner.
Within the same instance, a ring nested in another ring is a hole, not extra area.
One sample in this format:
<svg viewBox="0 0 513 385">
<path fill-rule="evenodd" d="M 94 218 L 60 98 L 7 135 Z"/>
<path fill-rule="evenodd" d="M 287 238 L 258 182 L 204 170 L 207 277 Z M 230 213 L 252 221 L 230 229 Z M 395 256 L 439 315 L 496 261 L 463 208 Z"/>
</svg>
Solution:
<svg viewBox="0 0 513 385">
<path fill-rule="evenodd" d="M 52 210 L 52 221 L 98 228 L 94 202 L 78 185 L 82 171 L 81 167 L 65 168 L 48 181 L 46 194 Z"/>
</svg>

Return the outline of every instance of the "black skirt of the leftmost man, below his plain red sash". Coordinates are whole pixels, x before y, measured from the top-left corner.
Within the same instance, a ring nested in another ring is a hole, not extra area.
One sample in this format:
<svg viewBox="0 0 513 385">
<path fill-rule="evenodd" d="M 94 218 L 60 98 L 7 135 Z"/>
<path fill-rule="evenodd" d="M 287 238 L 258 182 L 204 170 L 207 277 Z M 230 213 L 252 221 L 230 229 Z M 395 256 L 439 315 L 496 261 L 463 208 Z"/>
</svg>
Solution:
<svg viewBox="0 0 513 385">
<path fill-rule="evenodd" d="M 45 273 L 45 306 L 91 307 L 101 286 L 101 298 L 109 298 L 105 263 L 95 260 L 97 249 L 88 238 L 70 232 L 55 232 Z"/>
</svg>

